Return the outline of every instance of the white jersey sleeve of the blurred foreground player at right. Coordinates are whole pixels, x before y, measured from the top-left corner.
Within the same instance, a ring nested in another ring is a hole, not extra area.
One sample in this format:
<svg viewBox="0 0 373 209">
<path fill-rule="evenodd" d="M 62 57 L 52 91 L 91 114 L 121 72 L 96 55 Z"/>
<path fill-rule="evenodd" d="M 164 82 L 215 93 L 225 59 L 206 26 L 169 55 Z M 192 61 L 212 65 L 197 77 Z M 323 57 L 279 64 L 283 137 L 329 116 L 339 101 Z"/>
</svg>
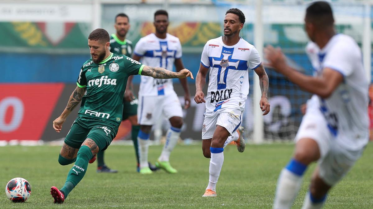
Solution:
<svg viewBox="0 0 373 209">
<path fill-rule="evenodd" d="M 354 64 L 360 57 L 360 51 L 354 49 L 346 42 L 335 45 L 325 56 L 323 67 L 332 68 L 344 75 L 344 77 L 351 75 L 354 70 Z"/>
</svg>

